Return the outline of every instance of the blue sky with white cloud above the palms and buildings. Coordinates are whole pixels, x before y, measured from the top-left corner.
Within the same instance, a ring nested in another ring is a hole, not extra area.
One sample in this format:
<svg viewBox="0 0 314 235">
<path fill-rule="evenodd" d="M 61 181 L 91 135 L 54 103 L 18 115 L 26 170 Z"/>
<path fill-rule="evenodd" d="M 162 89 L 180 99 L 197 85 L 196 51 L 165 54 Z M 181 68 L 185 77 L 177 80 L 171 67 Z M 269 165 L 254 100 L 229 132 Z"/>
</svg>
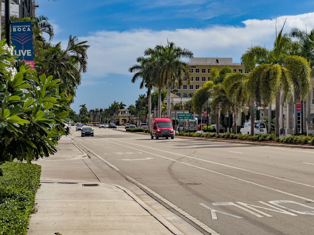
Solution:
<svg viewBox="0 0 314 235">
<path fill-rule="evenodd" d="M 54 25 L 53 42 L 68 36 L 88 40 L 89 70 L 82 75 L 72 108 L 106 108 L 113 101 L 134 104 L 139 82 L 132 84 L 132 66 L 143 51 L 167 38 L 188 48 L 194 57 L 232 57 L 239 62 L 251 44 L 271 47 L 275 18 L 285 30 L 314 27 L 313 1 L 225 0 L 59 0 L 39 1 L 37 15 Z"/>
</svg>

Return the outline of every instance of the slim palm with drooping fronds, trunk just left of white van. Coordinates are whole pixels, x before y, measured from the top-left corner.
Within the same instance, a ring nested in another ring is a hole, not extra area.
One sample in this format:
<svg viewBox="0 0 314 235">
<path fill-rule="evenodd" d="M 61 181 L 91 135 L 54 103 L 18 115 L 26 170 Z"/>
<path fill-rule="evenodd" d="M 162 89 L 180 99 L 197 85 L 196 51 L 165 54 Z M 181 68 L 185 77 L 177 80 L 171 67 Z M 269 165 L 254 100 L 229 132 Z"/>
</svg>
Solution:
<svg viewBox="0 0 314 235">
<path fill-rule="evenodd" d="M 246 76 L 240 72 L 230 73 L 222 83 L 230 102 L 233 104 L 233 133 L 237 133 L 236 120 L 237 113 L 242 110 L 247 101 L 246 92 L 244 91 L 244 81 Z"/>
</svg>

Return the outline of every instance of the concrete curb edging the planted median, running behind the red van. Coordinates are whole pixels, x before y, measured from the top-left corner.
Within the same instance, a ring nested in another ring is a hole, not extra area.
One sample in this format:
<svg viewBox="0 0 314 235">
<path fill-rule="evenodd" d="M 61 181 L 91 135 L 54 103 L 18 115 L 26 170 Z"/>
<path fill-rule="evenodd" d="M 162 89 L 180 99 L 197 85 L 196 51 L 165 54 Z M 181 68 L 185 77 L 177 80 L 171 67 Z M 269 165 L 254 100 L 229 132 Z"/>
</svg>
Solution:
<svg viewBox="0 0 314 235">
<path fill-rule="evenodd" d="M 123 130 L 117 130 L 117 131 L 126 132 Z M 149 135 L 149 133 L 141 133 L 141 132 L 128 132 L 128 133 Z M 280 147 L 280 148 L 290 148 L 290 149 L 314 149 L 314 146 L 304 146 L 304 145 L 294 145 L 294 144 L 267 144 L 267 143 L 261 143 L 261 142 L 233 141 L 233 140 L 225 140 L 225 139 L 198 138 L 198 137 L 188 137 L 188 136 L 178 136 L 178 135 L 175 135 L 175 137 L 181 138 L 181 139 L 223 142 L 223 143 L 230 143 L 230 144 L 247 144 L 247 145 L 270 146 L 270 147 Z"/>
</svg>

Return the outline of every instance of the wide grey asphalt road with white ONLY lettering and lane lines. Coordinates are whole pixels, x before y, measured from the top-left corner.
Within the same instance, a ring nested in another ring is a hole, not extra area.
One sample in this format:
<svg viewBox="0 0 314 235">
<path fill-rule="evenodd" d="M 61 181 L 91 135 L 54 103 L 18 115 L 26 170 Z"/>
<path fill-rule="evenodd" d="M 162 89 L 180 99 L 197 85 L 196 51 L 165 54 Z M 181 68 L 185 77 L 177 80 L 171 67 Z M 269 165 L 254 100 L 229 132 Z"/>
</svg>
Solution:
<svg viewBox="0 0 314 235">
<path fill-rule="evenodd" d="M 94 129 L 73 135 L 221 235 L 314 234 L 313 150 Z"/>
</svg>

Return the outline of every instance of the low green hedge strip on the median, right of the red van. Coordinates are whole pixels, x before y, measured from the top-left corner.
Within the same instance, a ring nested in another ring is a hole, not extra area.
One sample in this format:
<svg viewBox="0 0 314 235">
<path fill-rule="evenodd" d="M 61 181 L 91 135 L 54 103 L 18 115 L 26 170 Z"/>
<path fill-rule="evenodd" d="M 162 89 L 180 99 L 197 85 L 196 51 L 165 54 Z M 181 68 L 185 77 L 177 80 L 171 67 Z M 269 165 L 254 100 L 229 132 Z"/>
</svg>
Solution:
<svg viewBox="0 0 314 235">
<path fill-rule="evenodd" d="M 275 141 L 279 143 L 287 144 L 309 144 L 314 145 L 314 137 L 305 135 L 290 135 L 286 138 L 275 137 L 274 134 L 260 134 L 260 135 L 244 135 L 244 134 L 233 134 L 233 133 L 221 133 L 217 135 L 216 133 L 194 133 L 194 132 L 180 132 L 176 135 L 179 136 L 192 136 L 192 137 L 204 137 L 204 138 L 225 138 L 225 139 L 241 139 L 241 140 L 251 140 L 251 141 Z"/>
</svg>

